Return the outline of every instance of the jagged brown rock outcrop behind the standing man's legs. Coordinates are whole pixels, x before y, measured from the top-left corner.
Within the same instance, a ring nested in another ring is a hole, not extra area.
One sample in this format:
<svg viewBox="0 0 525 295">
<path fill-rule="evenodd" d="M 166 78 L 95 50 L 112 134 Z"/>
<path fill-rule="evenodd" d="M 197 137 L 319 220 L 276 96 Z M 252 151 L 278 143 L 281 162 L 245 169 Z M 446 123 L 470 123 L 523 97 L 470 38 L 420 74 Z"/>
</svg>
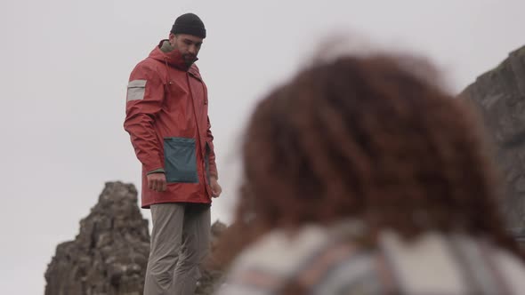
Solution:
<svg viewBox="0 0 525 295">
<path fill-rule="evenodd" d="M 225 228 L 219 221 L 212 226 L 212 255 Z M 45 272 L 45 295 L 141 295 L 148 256 L 148 220 L 137 190 L 108 182 L 76 239 L 57 247 Z M 206 265 L 201 273 L 196 294 L 211 294 L 222 270 Z"/>
</svg>

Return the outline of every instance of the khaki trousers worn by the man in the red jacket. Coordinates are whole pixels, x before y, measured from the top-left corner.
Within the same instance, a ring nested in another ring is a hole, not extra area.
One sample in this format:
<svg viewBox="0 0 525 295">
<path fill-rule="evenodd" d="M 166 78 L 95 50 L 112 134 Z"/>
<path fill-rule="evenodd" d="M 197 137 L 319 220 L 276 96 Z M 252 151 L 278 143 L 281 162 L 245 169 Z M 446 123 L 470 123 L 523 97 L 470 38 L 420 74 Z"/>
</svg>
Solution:
<svg viewBox="0 0 525 295">
<path fill-rule="evenodd" d="M 210 243 L 210 205 L 150 206 L 153 229 L 144 295 L 191 295 Z"/>
</svg>

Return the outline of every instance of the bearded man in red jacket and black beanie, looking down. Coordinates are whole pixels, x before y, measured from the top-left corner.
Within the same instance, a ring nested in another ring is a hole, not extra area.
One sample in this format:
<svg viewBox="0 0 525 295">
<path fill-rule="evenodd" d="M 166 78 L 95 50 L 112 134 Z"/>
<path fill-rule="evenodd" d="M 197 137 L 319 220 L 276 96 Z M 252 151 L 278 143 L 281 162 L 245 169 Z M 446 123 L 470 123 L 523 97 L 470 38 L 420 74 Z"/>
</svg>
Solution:
<svg viewBox="0 0 525 295">
<path fill-rule="evenodd" d="M 127 86 L 124 127 L 153 222 L 144 295 L 193 294 L 209 247 L 210 204 L 222 188 L 206 84 L 194 64 L 205 37 L 202 20 L 182 14 Z"/>
</svg>

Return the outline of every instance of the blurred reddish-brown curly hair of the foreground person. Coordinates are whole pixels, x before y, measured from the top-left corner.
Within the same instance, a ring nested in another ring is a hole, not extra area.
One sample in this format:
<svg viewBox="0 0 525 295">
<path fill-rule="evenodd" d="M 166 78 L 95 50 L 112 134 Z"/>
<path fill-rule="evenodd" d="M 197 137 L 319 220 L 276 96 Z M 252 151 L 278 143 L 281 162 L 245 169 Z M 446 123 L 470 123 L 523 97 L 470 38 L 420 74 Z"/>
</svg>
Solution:
<svg viewBox="0 0 525 295">
<path fill-rule="evenodd" d="M 347 218 L 367 225 L 371 243 L 385 228 L 437 230 L 518 252 L 476 116 L 401 63 L 319 62 L 259 103 L 244 137 L 231 255 L 274 228 Z"/>
</svg>

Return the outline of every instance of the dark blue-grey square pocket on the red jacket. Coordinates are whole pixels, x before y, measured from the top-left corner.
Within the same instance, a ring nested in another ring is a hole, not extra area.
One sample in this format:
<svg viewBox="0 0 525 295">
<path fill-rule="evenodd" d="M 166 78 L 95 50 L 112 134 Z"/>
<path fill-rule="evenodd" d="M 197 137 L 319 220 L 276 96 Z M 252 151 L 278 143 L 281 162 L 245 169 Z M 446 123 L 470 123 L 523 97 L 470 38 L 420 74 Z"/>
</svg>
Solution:
<svg viewBox="0 0 525 295">
<path fill-rule="evenodd" d="M 195 139 L 164 139 L 164 163 L 167 182 L 198 183 Z"/>
</svg>

